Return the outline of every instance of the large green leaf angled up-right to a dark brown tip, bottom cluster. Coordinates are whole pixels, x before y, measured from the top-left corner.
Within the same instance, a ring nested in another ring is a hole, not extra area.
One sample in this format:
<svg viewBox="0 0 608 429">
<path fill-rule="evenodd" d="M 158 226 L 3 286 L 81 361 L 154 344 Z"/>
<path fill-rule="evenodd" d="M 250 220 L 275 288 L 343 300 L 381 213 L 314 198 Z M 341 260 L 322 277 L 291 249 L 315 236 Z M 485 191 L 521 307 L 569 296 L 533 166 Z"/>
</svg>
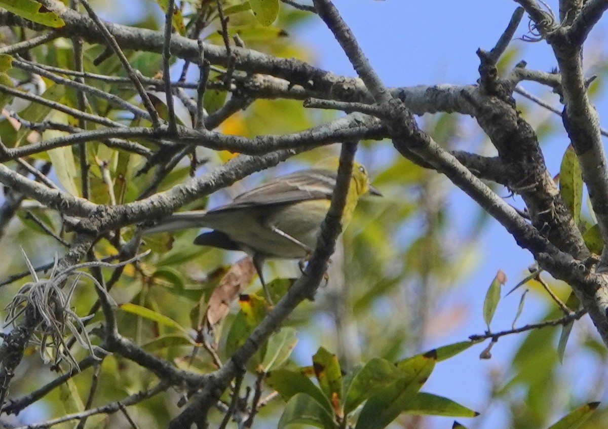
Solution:
<svg viewBox="0 0 608 429">
<path fill-rule="evenodd" d="M 394 383 L 367 400 L 357 429 L 383 429 L 407 409 L 410 401 L 429 378 L 435 368 L 437 355 L 416 355 L 397 363 L 402 374 Z"/>
</svg>

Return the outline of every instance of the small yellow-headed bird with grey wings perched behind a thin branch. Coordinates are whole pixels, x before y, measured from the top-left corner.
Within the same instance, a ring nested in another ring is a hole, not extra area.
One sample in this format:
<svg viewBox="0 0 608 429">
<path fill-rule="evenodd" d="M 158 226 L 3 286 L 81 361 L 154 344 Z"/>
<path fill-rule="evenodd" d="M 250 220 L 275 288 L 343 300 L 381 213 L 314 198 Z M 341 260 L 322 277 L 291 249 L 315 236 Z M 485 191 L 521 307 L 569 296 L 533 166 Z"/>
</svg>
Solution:
<svg viewBox="0 0 608 429">
<path fill-rule="evenodd" d="M 250 255 L 270 299 L 263 276 L 264 261 L 269 258 L 303 261 L 311 254 L 330 207 L 336 177 L 336 171 L 325 168 L 295 171 L 275 177 L 220 207 L 173 213 L 144 233 L 197 227 L 211 229 L 198 235 L 194 244 L 241 250 Z M 342 230 L 350 222 L 359 197 L 366 193 L 382 195 L 370 185 L 365 167 L 354 162 Z"/>
</svg>

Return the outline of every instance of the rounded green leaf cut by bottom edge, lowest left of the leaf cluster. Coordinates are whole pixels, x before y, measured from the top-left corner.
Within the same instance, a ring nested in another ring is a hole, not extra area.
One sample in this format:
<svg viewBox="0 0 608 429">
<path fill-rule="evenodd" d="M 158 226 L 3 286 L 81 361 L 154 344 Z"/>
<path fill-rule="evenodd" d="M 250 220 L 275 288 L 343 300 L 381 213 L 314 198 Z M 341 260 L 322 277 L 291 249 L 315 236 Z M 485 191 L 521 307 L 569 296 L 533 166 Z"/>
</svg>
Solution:
<svg viewBox="0 0 608 429">
<path fill-rule="evenodd" d="M 281 419 L 278 420 L 278 429 L 289 424 L 311 425 L 322 429 L 337 427 L 331 414 L 305 393 L 297 393 L 289 399 Z"/>
</svg>

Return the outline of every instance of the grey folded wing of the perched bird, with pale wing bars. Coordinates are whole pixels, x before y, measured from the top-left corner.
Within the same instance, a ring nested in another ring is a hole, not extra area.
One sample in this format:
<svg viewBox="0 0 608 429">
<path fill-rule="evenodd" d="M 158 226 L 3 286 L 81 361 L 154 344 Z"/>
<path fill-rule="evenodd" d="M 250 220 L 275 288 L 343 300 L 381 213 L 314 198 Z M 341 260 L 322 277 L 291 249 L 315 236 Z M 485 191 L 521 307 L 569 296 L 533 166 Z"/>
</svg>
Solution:
<svg viewBox="0 0 608 429">
<path fill-rule="evenodd" d="M 334 185 L 336 185 L 334 171 L 318 168 L 295 171 L 295 173 L 277 177 L 260 187 L 246 191 L 235 197 L 229 204 L 209 210 L 208 213 L 260 205 L 330 199 Z"/>
</svg>

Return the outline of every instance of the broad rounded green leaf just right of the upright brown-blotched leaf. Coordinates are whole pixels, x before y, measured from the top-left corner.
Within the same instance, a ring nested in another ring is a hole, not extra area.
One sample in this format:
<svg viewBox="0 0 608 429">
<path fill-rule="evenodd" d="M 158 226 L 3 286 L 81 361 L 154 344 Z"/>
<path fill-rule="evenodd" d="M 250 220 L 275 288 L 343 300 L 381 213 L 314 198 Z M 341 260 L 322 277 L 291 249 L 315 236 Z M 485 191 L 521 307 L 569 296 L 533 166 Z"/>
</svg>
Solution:
<svg viewBox="0 0 608 429">
<path fill-rule="evenodd" d="M 344 401 L 344 414 L 357 408 L 365 399 L 395 382 L 401 371 L 386 359 L 376 357 L 367 362 L 353 377 Z"/>
</svg>

